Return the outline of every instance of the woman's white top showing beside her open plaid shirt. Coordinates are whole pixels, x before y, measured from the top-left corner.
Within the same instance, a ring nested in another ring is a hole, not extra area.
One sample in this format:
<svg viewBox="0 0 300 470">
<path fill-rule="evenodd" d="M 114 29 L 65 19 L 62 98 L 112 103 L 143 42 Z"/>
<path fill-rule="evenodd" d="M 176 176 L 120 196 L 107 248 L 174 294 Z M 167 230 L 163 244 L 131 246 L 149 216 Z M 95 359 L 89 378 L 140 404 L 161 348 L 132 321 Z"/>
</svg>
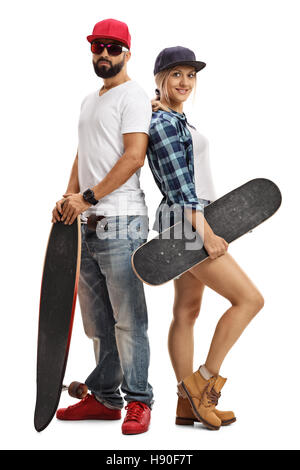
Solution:
<svg viewBox="0 0 300 470">
<path fill-rule="evenodd" d="M 194 177 L 199 199 L 211 202 L 217 199 L 209 161 L 209 144 L 206 137 L 191 126 L 187 126 L 193 141 Z"/>
</svg>

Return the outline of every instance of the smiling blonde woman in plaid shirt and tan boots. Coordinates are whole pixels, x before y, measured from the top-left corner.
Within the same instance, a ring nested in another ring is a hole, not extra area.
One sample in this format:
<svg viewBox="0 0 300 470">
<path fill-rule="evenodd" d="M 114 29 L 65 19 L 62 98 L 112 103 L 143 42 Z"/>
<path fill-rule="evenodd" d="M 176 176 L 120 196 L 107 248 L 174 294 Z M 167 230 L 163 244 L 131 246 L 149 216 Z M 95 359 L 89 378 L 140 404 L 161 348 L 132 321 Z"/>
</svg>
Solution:
<svg viewBox="0 0 300 470">
<path fill-rule="evenodd" d="M 216 409 L 226 379 L 221 365 L 264 299 L 228 253 L 228 243 L 214 234 L 203 208 L 215 199 L 207 140 L 187 123 L 183 104 L 205 67 L 184 47 L 166 48 L 158 55 L 154 75 L 157 99 L 152 102 L 148 161 L 163 194 L 154 229 L 174 222 L 164 208 L 180 207 L 203 239 L 209 257 L 174 279 L 175 299 L 168 347 L 178 381 L 176 424 L 200 421 L 210 429 L 236 420 L 232 411 Z M 164 216 L 164 212 L 168 217 Z M 178 213 L 178 211 L 177 211 Z M 178 219 L 177 219 L 178 220 Z M 219 320 L 205 363 L 193 373 L 193 328 L 199 315 L 204 286 L 228 299 L 231 306 Z"/>
</svg>

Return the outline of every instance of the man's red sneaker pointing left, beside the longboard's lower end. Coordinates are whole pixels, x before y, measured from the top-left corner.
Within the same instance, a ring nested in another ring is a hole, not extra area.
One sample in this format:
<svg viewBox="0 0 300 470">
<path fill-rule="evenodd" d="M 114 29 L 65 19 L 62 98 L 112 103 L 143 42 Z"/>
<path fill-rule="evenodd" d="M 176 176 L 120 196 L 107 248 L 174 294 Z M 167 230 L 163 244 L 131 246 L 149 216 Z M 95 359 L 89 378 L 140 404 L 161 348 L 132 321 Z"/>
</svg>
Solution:
<svg viewBox="0 0 300 470">
<path fill-rule="evenodd" d="M 83 400 L 68 408 L 60 408 L 56 417 L 62 420 L 76 421 L 81 419 L 121 419 L 121 410 L 112 410 L 100 403 L 94 395 L 87 394 Z"/>
</svg>

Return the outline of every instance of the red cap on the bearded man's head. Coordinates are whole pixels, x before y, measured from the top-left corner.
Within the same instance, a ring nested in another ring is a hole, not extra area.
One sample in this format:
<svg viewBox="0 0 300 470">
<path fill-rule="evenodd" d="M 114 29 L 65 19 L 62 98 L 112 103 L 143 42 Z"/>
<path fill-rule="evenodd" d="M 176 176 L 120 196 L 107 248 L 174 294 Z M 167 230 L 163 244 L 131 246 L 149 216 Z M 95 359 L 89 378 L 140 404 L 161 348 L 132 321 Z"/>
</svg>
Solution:
<svg viewBox="0 0 300 470">
<path fill-rule="evenodd" d="M 126 23 L 122 21 L 108 19 L 99 21 L 95 24 L 93 34 L 87 36 L 89 42 L 94 41 L 97 38 L 109 38 L 120 41 L 130 49 L 131 37 Z"/>
</svg>

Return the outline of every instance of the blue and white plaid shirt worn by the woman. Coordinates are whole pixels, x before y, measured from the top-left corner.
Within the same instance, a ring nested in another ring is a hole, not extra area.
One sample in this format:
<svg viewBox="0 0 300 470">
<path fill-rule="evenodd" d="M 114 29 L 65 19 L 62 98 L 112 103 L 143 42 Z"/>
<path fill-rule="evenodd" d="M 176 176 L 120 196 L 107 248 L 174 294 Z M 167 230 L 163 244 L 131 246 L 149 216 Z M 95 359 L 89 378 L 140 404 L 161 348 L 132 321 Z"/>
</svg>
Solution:
<svg viewBox="0 0 300 470">
<path fill-rule="evenodd" d="M 161 205 L 179 204 L 203 212 L 194 181 L 194 155 L 185 114 L 152 113 L 147 157 L 155 182 L 163 194 Z"/>
</svg>

